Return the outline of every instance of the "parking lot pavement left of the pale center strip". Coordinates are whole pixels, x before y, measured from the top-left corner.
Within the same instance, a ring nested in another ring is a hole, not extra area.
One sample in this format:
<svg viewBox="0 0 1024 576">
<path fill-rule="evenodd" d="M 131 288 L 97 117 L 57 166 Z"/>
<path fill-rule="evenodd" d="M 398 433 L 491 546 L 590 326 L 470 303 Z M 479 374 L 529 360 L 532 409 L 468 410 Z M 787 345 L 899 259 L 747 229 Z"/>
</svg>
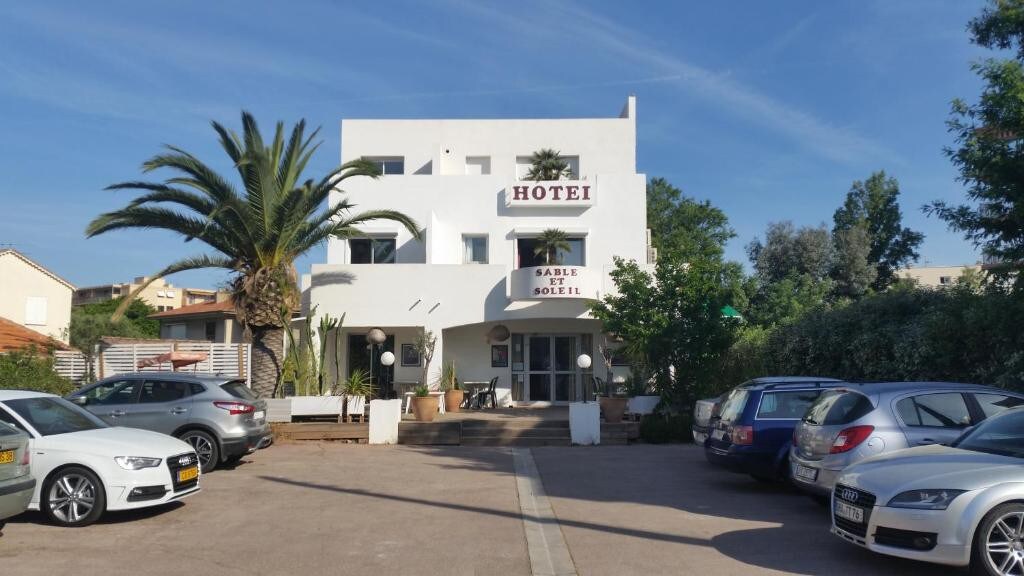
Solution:
<svg viewBox="0 0 1024 576">
<path fill-rule="evenodd" d="M 529 574 L 507 450 L 281 445 L 152 511 L 8 524 L 0 574 Z"/>
</svg>

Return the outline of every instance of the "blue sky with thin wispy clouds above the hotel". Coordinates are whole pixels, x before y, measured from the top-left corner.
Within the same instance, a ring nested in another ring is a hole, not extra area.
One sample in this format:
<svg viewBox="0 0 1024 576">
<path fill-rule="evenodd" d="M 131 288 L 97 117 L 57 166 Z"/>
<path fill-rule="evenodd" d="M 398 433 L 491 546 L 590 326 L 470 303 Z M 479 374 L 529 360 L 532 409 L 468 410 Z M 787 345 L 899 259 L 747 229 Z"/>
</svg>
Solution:
<svg viewBox="0 0 1024 576">
<path fill-rule="evenodd" d="M 963 189 L 949 101 L 980 84 L 967 0 L 642 2 L 135 1 L 0 4 L 0 245 L 75 284 L 153 273 L 202 246 L 162 232 L 86 240 L 139 164 L 174 143 L 226 170 L 209 121 L 614 116 L 638 97 L 638 168 L 728 214 L 728 255 L 769 221 L 830 222 L 885 169 L 922 263 L 977 259 L 921 213 Z M 398 207 L 400 208 L 400 207 Z M 319 250 L 298 262 L 308 272 Z M 185 273 L 178 285 L 224 275 Z"/>
</svg>

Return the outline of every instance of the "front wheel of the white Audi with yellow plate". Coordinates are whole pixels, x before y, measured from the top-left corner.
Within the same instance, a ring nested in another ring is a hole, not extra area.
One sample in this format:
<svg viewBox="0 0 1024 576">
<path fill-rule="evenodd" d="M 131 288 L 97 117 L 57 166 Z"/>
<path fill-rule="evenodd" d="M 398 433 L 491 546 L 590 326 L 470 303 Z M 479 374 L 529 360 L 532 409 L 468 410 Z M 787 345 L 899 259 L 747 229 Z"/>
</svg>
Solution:
<svg viewBox="0 0 1024 576">
<path fill-rule="evenodd" d="M 43 485 L 40 507 L 50 522 L 80 528 L 99 520 L 106 509 L 106 493 L 92 470 L 68 466 Z"/>
</svg>

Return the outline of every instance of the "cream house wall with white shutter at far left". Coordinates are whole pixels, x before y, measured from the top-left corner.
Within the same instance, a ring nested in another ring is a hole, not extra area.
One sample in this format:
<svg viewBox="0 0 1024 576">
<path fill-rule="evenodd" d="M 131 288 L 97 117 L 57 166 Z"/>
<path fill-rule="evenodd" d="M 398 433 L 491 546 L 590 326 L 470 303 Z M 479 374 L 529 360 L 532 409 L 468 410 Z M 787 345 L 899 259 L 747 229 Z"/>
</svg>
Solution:
<svg viewBox="0 0 1024 576">
<path fill-rule="evenodd" d="M 10 248 L 0 250 L 0 317 L 68 343 L 75 287 Z"/>
</svg>

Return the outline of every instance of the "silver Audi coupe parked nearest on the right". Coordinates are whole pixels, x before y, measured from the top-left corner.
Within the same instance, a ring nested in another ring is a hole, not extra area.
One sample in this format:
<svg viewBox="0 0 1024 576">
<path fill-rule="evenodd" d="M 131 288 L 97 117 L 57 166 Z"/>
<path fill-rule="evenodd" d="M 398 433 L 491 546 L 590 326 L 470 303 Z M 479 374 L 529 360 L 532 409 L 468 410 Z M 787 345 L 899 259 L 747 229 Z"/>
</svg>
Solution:
<svg viewBox="0 0 1024 576">
<path fill-rule="evenodd" d="M 833 490 L 833 532 L 885 554 L 1024 575 L 1024 408 L 950 446 L 847 467 Z"/>
</svg>

